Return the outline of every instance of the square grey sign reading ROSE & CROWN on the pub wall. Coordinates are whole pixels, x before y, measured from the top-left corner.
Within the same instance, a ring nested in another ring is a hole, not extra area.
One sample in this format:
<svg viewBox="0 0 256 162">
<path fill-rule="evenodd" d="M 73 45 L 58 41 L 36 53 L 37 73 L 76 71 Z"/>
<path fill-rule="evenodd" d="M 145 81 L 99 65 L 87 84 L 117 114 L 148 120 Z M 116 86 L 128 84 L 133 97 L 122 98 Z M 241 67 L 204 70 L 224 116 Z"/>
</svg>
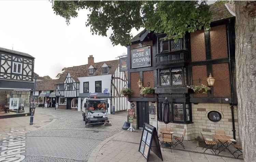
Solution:
<svg viewBox="0 0 256 162">
<path fill-rule="evenodd" d="M 131 50 L 131 68 L 151 66 L 150 46 Z"/>
</svg>

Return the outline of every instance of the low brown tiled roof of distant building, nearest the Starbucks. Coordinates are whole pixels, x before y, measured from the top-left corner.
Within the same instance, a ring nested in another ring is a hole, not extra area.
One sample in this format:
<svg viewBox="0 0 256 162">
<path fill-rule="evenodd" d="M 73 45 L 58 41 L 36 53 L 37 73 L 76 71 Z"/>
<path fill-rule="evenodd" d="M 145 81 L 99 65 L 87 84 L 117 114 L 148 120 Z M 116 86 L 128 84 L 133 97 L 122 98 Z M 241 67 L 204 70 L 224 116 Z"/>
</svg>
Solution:
<svg viewBox="0 0 256 162">
<path fill-rule="evenodd" d="M 55 84 L 59 83 L 59 79 L 49 79 L 37 81 L 35 90 L 36 91 L 55 91 Z"/>
</svg>

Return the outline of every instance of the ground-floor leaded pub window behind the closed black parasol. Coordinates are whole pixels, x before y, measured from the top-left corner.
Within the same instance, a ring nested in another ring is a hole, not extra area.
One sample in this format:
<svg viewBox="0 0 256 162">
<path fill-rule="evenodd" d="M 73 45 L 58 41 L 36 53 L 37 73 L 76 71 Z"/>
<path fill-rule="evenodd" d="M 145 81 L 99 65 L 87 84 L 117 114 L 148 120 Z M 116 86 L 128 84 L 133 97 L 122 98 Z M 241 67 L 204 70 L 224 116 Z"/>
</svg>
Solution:
<svg viewBox="0 0 256 162">
<path fill-rule="evenodd" d="M 162 121 L 163 102 L 159 103 L 158 120 Z M 191 106 L 189 103 L 170 103 L 170 121 L 172 123 L 191 123 Z"/>
</svg>

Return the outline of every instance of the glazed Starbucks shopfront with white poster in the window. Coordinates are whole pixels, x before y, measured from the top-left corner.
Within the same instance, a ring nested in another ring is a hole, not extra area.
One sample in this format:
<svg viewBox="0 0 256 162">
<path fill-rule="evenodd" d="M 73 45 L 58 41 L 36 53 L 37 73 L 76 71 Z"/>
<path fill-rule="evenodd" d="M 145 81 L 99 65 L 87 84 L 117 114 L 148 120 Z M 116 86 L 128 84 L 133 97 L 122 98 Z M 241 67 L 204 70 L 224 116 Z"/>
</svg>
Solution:
<svg viewBox="0 0 256 162">
<path fill-rule="evenodd" d="M 29 89 L 0 89 L 0 118 L 10 115 L 30 115 L 33 105 L 31 90 Z"/>
</svg>

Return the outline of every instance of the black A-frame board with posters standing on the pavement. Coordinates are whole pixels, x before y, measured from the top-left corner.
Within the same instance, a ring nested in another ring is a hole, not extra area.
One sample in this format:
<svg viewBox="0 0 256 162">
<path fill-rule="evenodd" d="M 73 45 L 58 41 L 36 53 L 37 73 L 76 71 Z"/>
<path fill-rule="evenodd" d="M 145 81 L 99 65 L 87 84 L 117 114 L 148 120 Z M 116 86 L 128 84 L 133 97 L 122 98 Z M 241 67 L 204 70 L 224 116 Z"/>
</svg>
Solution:
<svg viewBox="0 0 256 162">
<path fill-rule="evenodd" d="M 140 140 L 139 152 L 142 153 L 142 155 L 147 159 L 147 161 L 150 155 L 150 150 L 152 150 L 163 161 L 156 127 L 144 123 L 143 132 Z"/>
</svg>

